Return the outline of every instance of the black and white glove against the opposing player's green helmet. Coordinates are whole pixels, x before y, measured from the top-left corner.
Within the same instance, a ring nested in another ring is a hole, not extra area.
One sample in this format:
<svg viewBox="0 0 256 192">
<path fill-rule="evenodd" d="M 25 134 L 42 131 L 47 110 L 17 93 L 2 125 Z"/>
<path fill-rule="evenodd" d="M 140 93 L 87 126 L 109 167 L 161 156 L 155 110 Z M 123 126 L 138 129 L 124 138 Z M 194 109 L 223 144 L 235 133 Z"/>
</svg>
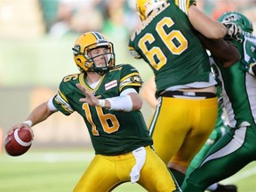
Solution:
<svg viewBox="0 0 256 192">
<path fill-rule="evenodd" d="M 233 22 L 223 22 L 222 23 L 227 28 L 227 34 L 225 36 L 228 40 L 236 40 L 238 42 L 242 42 L 243 39 L 239 37 L 242 34 L 243 30 L 236 23 Z"/>
</svg>

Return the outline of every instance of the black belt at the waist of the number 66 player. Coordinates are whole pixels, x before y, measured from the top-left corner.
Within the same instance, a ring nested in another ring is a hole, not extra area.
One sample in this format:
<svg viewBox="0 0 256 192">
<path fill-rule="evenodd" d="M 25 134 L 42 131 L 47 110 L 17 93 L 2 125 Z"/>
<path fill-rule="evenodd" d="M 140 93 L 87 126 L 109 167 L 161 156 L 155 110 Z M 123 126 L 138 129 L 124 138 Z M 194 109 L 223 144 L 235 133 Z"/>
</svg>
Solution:
<svg viewBox="0 0 256 192">
<path fill-rule="evenodd" d="M 175 95 L 187 96 L 187 97 L 204 97 L 215 98 L 216 94 L 213 92 L 180 92 L 180 91 L 167 91 L 160 94 L 162 97 L 173 97 Z"/>
</svg>

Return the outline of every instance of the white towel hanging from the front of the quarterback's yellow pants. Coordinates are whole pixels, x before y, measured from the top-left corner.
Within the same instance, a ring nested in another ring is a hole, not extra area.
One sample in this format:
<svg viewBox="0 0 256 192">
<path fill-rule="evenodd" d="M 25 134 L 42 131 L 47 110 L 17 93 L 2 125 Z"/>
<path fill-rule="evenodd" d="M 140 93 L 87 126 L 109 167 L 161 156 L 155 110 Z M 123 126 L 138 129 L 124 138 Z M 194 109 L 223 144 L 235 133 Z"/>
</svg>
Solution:
<svg viewBox="0 0 256 192">
<path fill-rule="evenodd" d="M 132 167 L 130 172 L 131 182 L 135 183 L 140 179 L 140 170 L 146 161 L 146 149 L 144 147 L 137 148 L 132 151 L 133 156 L 135 157 L 136 164 Z"/>
</svg>

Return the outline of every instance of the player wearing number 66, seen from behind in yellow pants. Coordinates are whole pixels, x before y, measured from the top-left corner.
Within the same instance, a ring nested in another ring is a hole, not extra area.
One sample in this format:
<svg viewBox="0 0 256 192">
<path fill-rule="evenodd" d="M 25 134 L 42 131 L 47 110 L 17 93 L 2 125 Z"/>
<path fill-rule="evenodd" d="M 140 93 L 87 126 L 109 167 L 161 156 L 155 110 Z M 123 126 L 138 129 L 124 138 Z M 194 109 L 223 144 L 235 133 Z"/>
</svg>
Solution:
<svg viewBox="0 0 256 192">
<path fill-rule="evenodd" d="M 218 109 L 216 81 L 198 34 L 220 45 L 225 43 L 224 36 L 236 38 L 239 30 L 207 17 L 196 8 L 195 0 L 136 2 L 141 23 L 131 36 L 129 49 L 153 69 L 159 97 L 149 133 L 158 156 L 165 164 L 171 159 L 169 166 L 182 183 L 190 161 L 214 128 Z M 210 49 L 212 44 L 206 45 Z M 225 62 L 225 67 L 239 59 L 236 48 L 229 47 L 231 51 L 223 50 L 233 60 Z M 212 54 L 218 53 L 212 49 Z"/>
</svg>

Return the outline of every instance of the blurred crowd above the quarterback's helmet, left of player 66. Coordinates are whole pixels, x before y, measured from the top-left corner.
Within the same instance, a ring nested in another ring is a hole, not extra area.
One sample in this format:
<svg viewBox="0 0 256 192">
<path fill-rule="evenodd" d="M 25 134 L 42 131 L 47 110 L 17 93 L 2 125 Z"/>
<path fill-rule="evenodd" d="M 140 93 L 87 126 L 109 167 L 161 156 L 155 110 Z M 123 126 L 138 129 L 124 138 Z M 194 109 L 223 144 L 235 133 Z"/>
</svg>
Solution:
<svg viewBox="0 0 256 192">
<path fill-rule="evenodd" d="M 97 30 L 122 38 L 130 35 L 138 20 L 135 0 L 59 0 L 55 17 L 46 22 L 46 32 L 60 37 Z"/>
</svg>

